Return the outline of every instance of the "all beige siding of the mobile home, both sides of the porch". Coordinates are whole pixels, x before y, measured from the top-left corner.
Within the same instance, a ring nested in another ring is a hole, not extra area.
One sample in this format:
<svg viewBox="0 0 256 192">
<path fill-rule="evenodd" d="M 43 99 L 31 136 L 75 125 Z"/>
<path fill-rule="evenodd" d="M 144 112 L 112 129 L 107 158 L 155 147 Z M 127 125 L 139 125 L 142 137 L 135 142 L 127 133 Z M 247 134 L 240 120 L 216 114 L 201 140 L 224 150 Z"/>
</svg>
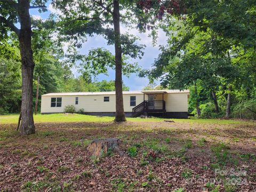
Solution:
<svg viewBox="0 0 256 192">
<path fill-rule="evenodd" d="M 65 106 L 74 105 L 76 110 L 83 108 L 85 112 L 115 112 L 116 101 L 115 94 L 86 94 L 86 95 L 42 95 L 41 113 L 63 113 Z M 71 93 L 70 93 L 71 94 Z M 187 92 L 180 93 L 165 93 L 165 108 L 166 112 L 187 112 L 188 111 L 188 94 Z M 145 100 L 148 100 L 148 95 L 145 94 Z M 153 94 L 155 100 L 162 100 L 162 94 Z M 124 111 L 132 112 L 134 106 L 130 106 L 130 97 L 136 96 L 136 106 L 143 101 L 143 93 L 123 94 Z M 62 98 L 61 107 L 51 107 L 51 98 Z M 78 97 L 78 105 L 75 105 L 76 97 Z M 109 97 L 109 102 L 104 102 L 104 97 Z"/>
</svg>

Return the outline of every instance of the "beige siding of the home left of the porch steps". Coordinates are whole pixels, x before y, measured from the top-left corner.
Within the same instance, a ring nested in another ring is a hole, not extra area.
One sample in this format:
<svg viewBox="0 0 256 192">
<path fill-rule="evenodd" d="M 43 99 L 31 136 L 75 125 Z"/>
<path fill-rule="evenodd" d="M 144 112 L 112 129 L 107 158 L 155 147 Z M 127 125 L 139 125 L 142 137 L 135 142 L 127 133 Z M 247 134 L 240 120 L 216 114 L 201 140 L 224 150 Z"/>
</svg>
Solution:
<svg viewBox="0 0 256 192">
<path fill-rule="evenodd" d="M 130 96 L 136 96 L 136 105 L 143 101 L 143 94 L 124 94 L 124 111 L 132 112 L 134 106 L 130 106 Z M 41 113 L 63 113 L 65 106 L 74 105 L 76 110 L 83 108 L 84 112 L 115 112 L 116 98 L 114 94 L 109 95 L 64 95 L 56 96 L 62 98 L 61 107 L 51 107 L 51 98 L 55 96 L 42 96 Z M 78 97 L 78 105 L 75 105 Z M 104 102 L 104 97 L 109 97 L 109 102 Z"/>
</svg>

